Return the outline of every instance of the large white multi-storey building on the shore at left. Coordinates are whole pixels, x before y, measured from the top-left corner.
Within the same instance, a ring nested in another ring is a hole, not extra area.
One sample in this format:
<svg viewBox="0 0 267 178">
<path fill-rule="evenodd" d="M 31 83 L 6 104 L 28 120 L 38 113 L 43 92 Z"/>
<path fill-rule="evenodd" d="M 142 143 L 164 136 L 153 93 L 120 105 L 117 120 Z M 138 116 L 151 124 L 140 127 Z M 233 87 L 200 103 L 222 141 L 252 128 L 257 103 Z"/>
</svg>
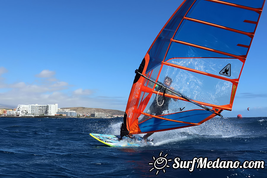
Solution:
<svg viewBox="0 0 267 178">
<path fill-rule="evenodd" d="M 54 105 L 18 105 L 16 110 L 19 116 L 55 116 L 58 104 Z"/>
</svg>

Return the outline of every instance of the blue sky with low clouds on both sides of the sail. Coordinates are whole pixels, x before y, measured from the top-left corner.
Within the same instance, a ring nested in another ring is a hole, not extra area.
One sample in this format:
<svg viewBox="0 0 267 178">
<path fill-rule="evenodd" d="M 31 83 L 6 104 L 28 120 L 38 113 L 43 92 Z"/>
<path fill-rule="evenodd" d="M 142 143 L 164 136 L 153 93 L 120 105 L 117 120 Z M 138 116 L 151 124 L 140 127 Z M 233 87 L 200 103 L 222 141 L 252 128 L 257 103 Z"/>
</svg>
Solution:
<svg viewBox="0 0 267 178">
<path fill-rule="evenodd" d="M 181 3 L 1 0 L 0 105 L 58 103 L 124 111 L 134 70 Z M 233 111 L 223 111 L 224 116 L 267 116 L 264 10 Z"/>
</svg>

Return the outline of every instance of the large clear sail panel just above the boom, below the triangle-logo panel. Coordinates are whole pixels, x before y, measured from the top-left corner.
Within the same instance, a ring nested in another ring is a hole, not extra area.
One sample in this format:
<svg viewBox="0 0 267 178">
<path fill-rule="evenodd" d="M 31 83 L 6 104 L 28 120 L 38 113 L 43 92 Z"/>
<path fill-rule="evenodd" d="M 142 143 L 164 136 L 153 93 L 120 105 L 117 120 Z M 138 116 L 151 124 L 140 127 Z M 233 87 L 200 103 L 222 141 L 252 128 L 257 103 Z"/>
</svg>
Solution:
<svg viewBox="0 0 267 178">
<path fill-rule="evenodd" d="M 230 103 L 233 84 L 229 81 L 163 65 L 159 79 L 165 76 L 172 78 L 175 91 L 193 100 L 214 105 Z"/>
</svg>

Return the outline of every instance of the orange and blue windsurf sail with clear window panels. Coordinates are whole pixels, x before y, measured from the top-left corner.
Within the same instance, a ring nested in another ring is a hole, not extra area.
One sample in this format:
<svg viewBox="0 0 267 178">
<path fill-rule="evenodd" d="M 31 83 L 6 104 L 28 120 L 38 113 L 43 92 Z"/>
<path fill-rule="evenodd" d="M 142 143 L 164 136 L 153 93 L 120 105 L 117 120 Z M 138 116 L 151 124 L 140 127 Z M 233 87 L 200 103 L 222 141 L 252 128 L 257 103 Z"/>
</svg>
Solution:
<svg viewBox="0 0 267 178">
<path fill-rule="evenodd" d="M 265 0 L 185 0 L 150 46 L 121 136 L 197 126 L 232 110 Z"/>
</svg>

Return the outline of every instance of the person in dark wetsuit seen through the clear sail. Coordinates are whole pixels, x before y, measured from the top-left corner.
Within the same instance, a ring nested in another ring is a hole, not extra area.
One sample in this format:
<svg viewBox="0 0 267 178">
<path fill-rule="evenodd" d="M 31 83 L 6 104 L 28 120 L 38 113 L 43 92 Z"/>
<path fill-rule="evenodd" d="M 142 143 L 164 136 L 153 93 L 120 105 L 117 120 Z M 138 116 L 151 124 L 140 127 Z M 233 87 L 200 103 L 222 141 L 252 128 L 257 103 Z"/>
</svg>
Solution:
<svg viewBox="0 0 267 178">
<path fill-rule="evenodd" d="M 166 76 L 164 78 L 163 84 L 167 88 L 169 88 L 171 90 L 174 90 L 174 88 L 172 86 L 170 86 L 171 83 L 172 83 L 172 79 L 170 77 Z M 162 88 L 161 86 L 156 85 L 155 90 L 164 93 L 164 88 Z M 172 93 L 170 91 L 166 91 L 166 94 L 172 94 Z M 175 99 L 175 98 L 172 98 L 172 99 L 174 101 L 177 101 L 177 99 Z M 165 97 L 164 95 L 163 96 L 162 95 L 157 95 L 157 97 L 154 99 L 154 101 L 152 102 L 151 106 L 149 107 L 147 113 L 155 115 L 155 116 L 162 115 L 164 110 L 168 110 L 170 102 L 171 102 L 171 98 L 170 97 Z M 144 118 L 142 120 L 147 119 L 147 118 L 149 118 L 149 116 L 144 116 Z M 159 123 L 159 119 L 154 120 L 154 124 L 158 124 L 158 123 Z M 144 135 L 143 138 L 146 140 L 153 133 L 154 132 L 148 133 L 148 134 Z"/>
</svg>

